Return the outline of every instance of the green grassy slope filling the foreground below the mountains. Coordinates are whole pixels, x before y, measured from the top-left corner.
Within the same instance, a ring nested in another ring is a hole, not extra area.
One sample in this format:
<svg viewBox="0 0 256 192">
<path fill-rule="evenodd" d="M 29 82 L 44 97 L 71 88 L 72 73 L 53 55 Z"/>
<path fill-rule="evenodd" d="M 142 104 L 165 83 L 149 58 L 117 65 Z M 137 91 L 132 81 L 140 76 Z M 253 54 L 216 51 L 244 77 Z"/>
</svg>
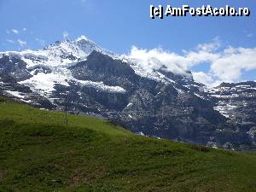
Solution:
<svg viewBox="0 0 256 192">
<path fill-rule="evenodd" d="M 148 137 L 0 97 L 0 191 L 256 191 L 256 155 Z"/>
</svg>

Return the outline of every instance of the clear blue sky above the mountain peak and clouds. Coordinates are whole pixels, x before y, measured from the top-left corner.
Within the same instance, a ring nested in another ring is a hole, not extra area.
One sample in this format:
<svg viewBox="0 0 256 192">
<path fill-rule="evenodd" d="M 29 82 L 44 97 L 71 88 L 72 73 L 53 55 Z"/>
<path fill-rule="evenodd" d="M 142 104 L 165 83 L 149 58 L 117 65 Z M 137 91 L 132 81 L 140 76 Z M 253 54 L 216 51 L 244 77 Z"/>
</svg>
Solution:
<svg viewBox="0 0 256 192">
<path fill-rule="evenodd" d="M 188 4 L 190 7 L 229 4 L 251 9 L 251 16 L 151 20 L 150 4 Z M 240 53 L 240 47 L 247 51 L 256 47 L 255 13 L 253 0 L 0 0 L 0 51 L 40 49 L 44 44 L 62 40 L 63 32 L 67 32 L 68 38 L 84 34 L 118 54 L 129 54 L 135 45 L 138 49 L 161 48 L 184 56 L 183 50 L 195 51 L 199 44 L 214 44 L 217 38 L 220 46 L 215 53 L 222 54 L 228 47 Z M 202 61 L 189 69 L 208 74 L 212 73 L 211 67 L 212 61 Z M 219 79 L 215 73 L 212 78 Z M 248 79 L 256 79 L 256 67 L 241 68 L 236 80 Z"/>
</svg>

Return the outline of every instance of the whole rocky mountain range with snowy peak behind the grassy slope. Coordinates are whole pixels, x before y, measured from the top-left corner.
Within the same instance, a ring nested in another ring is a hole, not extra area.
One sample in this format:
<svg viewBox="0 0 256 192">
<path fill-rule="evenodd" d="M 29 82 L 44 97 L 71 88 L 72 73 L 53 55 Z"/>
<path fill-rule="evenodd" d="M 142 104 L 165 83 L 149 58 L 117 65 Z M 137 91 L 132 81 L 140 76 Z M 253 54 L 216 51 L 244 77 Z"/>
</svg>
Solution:
<svg viewBox="0 0 256 192">
<path fill-rule="evenodd" d="M 144 70 L 137 61 L 84 36 L 40 50 L 0 53 L 1 95 L 39 108 L 62 110 L 68 104 L 70 113 L 101 116 L 148 136 L 212 147 L 253 145 L 254 88 L 253 83 L 221 84 L 207 90 L 190 72 Z"/>
</svg>

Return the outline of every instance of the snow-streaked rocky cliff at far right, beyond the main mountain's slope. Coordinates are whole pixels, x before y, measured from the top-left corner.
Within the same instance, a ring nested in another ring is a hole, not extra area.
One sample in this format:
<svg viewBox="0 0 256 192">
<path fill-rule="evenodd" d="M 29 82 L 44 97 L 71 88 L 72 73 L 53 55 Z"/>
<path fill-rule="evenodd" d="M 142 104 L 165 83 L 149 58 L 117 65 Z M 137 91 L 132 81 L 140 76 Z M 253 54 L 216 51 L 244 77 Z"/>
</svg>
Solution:
<svg viewBox="0 0 256 192">
<path fill-rule="evenodd" d="M 223 83 L 207 92 L 214 102 L 214 109 L 227 118 L 218 129 L 223 135 L 221 141 L 227 142 L 226 135 L 229 135 L 229 143 L 233 137 L 239 144 L 244 140 L 255 143 L 256 82 Z"/>
</svg>

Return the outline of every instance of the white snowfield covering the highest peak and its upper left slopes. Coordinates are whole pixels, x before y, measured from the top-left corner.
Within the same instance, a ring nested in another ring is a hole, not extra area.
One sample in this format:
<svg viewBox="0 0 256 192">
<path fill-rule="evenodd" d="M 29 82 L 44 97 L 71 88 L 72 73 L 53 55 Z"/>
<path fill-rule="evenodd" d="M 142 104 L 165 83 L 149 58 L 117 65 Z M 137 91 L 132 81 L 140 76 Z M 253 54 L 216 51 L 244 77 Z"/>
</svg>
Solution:
<svg viewBox="0 0 256 192">
<path fill-rule="evenodd" d="M 108 87 L 101 82 L 79 81 L 73 79 L 67 67 L 71 67 L 79 61 L 86 60 L 90 53 L 96 50 L 102 54 L 118 57 L 108 50 L 102 49 L 88 38 L 81 36 L 75 41 L 57 41 L 44 49 L 24 50 L 21 52 L 9 51 L 0 53 L 3 59 L 9 57 L 9 64 L 15 64 L 12 58 L 19 59 L 26 63 L 26 71 L 32 77 L 26 78 L 24 81 L 19 81 L 19 84 L 29 86 L 35 92 L 43 96 L 50 96 L 50 93 L 55 90 L 55 84 L 67 85 L 69 81 L 75 81 L 79 84 L 88 84 L 88 86 L 96 86 L 102 90 L 116 91 L 121 90 L 119 87 Z"/>
</svg>

